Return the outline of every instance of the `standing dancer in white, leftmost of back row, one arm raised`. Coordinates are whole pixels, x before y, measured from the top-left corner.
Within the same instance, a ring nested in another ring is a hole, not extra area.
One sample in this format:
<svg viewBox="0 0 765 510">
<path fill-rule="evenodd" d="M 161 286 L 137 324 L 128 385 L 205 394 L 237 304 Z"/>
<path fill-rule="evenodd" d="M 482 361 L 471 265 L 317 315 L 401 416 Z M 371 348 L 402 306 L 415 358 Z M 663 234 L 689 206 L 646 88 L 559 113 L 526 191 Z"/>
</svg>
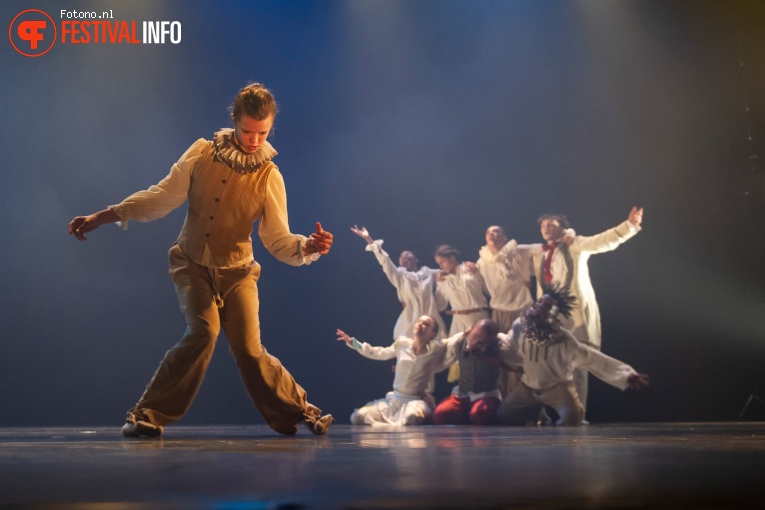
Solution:
<svg viewBox="0 0 765 510">
<path fill-rule="evenodd" d="M 418 268 L 419 260 L 408 250 L 401 252 L 398 257 L 399 266 L 396 267 L 390 256 L 383 250 L 382 239 L 373 240 L 365 227 L 359 228 L 354 225 L 351 227 L 351 232 L 367 242 L 366 250 L 374 253 L 385 276 L 396 288 L 398 300 L 404 308 L 393 327 L 393 339 L 409 335 L 415 322 L 422 315 L 429 315 L 436 321 L 438 326 L 436 338 L 443 338 L 446 335 L 446 325 L 441 314 L 438 313 L 436 300 L 433 297 L 435 277 L 440 271 L 427 266 Z"/>
</svg>

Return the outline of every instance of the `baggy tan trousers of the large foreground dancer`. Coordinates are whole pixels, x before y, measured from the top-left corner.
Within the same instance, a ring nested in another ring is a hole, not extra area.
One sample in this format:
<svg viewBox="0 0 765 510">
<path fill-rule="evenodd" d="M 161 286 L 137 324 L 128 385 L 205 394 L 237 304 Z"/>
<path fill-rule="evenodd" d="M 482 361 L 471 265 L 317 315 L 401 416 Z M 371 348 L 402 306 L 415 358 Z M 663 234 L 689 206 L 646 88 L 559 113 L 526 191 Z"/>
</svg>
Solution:
<svg viewBox="0 0 765 510">
<path fill-rule="evenodd" d="M 221 327 L 250 399 L 268 425 L 295 434 L 306 410 L 306 392 L 260 343 L 257 262 L 214 269 L 191 261 L 174 244 L 170 276 L 186 317 L 183 338 L 165 354 L 138 403 L 136 419 L 167 425 L 188 410 L 202 384 Z M 316 416 L 318 417 L 318 416 Z"/>
</svg>

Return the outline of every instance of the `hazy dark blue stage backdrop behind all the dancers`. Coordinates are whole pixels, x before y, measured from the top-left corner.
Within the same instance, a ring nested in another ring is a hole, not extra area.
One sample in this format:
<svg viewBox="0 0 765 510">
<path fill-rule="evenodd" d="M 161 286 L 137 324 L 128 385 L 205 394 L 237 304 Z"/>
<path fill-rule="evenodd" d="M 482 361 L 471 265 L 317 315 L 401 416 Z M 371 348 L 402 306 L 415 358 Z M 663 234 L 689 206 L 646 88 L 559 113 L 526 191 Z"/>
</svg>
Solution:
<svg viewBox="0 0 765 510">
<path fill-rule="evenodd" d="M 590 270 L 603 350 L 652 385 L 593 382 L 590 420 L 729 420 L 765 391 L 762 2 L 14 0 L 2 26 L 31 8 L 180 21 L 182 41 L 0 43 L 0 426 L 122 422 L 183 332 L 185 206 L 85 243 L 67 224 L 159 181 L 249 81 L 281 108 L 292 230 L 335 234 L 307 268 L 255 239 L 263 342 L 341 421 L 392 363 L 335 328 L 387 344 L 400 307 L 350 226 L 432 266 L 442 243 L 475 260 L 489 225 L 536 242 L 556 211 L 595 234 L 633 204 L 643 231 Z M 253 422 L 221 338 L 182 423 Z"/>
</svg>

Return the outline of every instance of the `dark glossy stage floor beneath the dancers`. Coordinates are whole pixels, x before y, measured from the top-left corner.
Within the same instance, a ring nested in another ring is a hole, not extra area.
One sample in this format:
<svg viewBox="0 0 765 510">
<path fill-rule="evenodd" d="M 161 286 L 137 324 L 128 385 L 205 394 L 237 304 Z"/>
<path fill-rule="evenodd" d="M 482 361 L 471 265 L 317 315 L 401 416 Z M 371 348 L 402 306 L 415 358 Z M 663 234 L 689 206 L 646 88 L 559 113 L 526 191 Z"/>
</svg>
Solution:
<svg viewBox="0 0 765 510">
<path fill-rule="evenodd" d="M 0 429 L 0 508 L 765 508 L 765 423 Z"/>
</svg>

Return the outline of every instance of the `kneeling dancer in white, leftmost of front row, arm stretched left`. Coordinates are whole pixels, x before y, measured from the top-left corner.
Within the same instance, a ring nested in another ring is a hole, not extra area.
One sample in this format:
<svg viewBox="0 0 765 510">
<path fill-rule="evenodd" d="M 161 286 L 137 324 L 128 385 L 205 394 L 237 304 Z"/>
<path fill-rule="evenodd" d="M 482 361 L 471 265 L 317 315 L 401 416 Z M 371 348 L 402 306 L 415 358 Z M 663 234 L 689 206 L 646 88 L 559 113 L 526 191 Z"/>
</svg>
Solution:
<svg viewBox="0 0 765 510">
<path fill-rule="evenodd" d="M 354 425 L 422 425 L 433 414 L 434 375 L 443 369 L 444 348 L 436 340 L 438 323 L 423 315 L 414 325 L 412 338 L 401 336 L 388 347 L 373 347 L 359 342 L 341 330 L 338 341 L 345 342 L 366 358 L 396 358 L 393 391 L 373 400 L 351 414 Z"/>
</svg>

